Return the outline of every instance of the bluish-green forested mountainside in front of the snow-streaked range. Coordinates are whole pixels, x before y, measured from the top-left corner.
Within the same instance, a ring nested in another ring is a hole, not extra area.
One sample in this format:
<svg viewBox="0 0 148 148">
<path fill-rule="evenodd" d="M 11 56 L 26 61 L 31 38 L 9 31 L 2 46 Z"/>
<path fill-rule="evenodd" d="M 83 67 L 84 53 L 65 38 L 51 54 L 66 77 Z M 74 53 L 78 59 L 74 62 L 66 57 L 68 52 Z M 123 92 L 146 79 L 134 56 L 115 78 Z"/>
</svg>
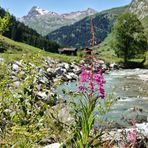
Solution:
<svg viewBox="0 0 148 148">
<path fill-rule="evenodd" d="M 127 6 L 110 9 L 97 13 L 91 17 L 74 23 L 70 26 L 61 27 L 48 34 L 49 40 L 57 41 L 59 44 L 71 47 L 86 47 L 91 45 L 91 19 L 95 30 L 96 44 L 102 42 L 111 32 L 117 16 L 123 13 Z"/>
</svg>

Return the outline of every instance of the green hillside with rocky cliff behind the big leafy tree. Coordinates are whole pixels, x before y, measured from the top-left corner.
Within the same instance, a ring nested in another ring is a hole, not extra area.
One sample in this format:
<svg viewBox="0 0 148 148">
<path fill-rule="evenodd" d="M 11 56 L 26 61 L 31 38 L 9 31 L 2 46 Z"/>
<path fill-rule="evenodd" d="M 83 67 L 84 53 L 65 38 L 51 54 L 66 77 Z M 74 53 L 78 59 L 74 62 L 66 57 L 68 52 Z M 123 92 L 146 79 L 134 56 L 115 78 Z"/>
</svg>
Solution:
<svg viewBox="0 0 148 148">
<path fill-rule="evenodd" d="M 128 12 L 132 12 L 137 15 L 137 17 L 142 22 L 144 27 L 145 35 L 148 39 L 148 1 L 147 0 L 133 0 L 129 7 L 126 9 Z M 97 45 L 95 48 L 99 53 L 99 57 L 107 62 L 120 62 L 113 48 L 112 44 L 112 33 L 108 34 L 108 36 L 104 39 L 101 44 Z M 148 49 L 148 48 L 147 48 Z M 144 65 L 148 67 L 148 51 L 145 53 L 146 62 Z M 141 62 L 143 59 L 136 59 L 137 62 Z"/>
</svg>

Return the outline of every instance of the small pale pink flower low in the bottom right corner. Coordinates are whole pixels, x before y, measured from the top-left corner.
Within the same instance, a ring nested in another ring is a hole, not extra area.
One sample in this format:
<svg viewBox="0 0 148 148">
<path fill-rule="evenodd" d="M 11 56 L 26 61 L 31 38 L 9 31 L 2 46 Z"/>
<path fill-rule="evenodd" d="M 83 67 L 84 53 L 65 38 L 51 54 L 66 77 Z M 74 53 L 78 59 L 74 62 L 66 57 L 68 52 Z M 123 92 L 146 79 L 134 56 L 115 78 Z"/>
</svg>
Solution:
<svg viewBox="0 0 148 148">
<path fill-rule="evenodd" d="M 127 139 L 130 143 L 135 144 L 136 140 L 137 140 L 137 132 L 136 130 L 131 130 L 129 131 L 128 135 L 127 135 Z"/>
</svg>

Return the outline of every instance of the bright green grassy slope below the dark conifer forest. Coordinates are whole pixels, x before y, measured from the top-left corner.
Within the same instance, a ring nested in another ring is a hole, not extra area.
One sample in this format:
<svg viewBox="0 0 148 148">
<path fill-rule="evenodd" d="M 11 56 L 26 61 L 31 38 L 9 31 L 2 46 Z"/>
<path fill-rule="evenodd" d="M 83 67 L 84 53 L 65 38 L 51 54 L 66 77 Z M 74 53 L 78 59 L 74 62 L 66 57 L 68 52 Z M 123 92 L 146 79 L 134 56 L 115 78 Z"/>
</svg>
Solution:
<svg viewBox="0 0 148 148">
<path fill-rule="evenodd" d="M 70 57 L 66 55 L 59 55 L 43 51 L 39 48 L 24 44 L 21 42 L 15 42 L 9 38 L 0 35 L 0 45 L 6 49 L 4 53 L 0 53 L 0 57 L 4 58 L 7 62 L 13 60 L 19 60 L 23 55 L 27 57 L 34 54 L 40 54 L 41 56 L 50 57 L 53 59 L 59 59 L 61 61 L 70 62 L 77 60 L 77 57 Z"/>
</svg>

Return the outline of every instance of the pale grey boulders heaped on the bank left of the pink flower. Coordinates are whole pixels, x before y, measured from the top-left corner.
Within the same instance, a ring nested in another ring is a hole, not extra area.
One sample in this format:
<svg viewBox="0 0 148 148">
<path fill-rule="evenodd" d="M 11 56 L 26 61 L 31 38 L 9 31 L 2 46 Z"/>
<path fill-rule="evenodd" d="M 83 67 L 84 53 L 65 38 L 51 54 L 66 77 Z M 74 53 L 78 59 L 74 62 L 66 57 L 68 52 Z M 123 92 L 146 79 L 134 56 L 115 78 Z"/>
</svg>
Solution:
<svg viewBox="0 0 148 148">
<path fill-rule="evenodd" d="M 27 69 L 28 68 L 28 69 Z M 8 65 L 13 87 L 16 89 L 33 74 L 33 85 L 36 87 L 34 94 L 42 99 L 47 99 L 51 94 L 50 86 L 55 82 L 70 82 L 78 79 L 80 67 L 76 63 L 65 63 L 46 58 L 42 66 L 23 61 L 11 62 Z M 43 85 L 46 86 L 43 89 Z M 54 93 L 54 90 L 53 92 Z"/>
</svg>

